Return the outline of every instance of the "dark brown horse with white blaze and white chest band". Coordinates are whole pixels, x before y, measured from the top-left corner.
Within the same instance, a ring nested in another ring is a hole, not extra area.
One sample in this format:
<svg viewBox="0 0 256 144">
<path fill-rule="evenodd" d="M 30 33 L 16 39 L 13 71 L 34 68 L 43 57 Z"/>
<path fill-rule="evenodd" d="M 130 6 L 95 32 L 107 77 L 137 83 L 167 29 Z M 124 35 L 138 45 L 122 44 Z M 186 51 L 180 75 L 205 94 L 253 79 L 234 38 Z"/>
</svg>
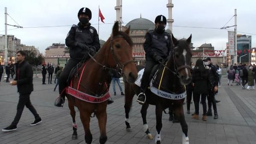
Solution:
<svg viewBox="0 0 256 144">
<path fill-rule="evenodd" d="M 183 143 L 189 144 L 189 138 L 187 135 L 188 126 L 185 121 L 183 112 L 183 102 L 186 96 L 186 84 L 191 81 L 191 49 L 189 44 L 191 43 L 191 35 L 187 40 L 177 40 L 172 35 L 172 41 L 174 44 L 174 49 L 166 59 L 164 64 L 160 64 L 158 72 L 154 77 L 152 85 L 156 88 L 155 92 L 161 96 L 155 95 L 150 90 L 148 90 L 145 95 L 147 95 L 146 102 L 141 108 L 141 115 L 143 118 L 143 130 L 147 134 L 147 137 L 152 139 L 153 136 L 148 130 L 148 125 L 146 121 L 146 114 L 149 104 L 155 105 L 156 113 L 156 129 L 157 135 L 155 137 L 155 142 L 160 144 L 160 131 L 162 128 L 162 113 L 163 110 L 171 107 L 178 120 L 180 120 L 180 125 L 183 131 Z M 137 71 L 143 69 L 143 66 L 137 66 Z M 151 88 L 153 89 L 153 88 Z M 165 93 L 164 93 L 164 92 Z M 131 104 L 134 95 L 140 93 L 140 87 L 136 84 L 129 84 L 125 82 L 125 124 L 126 129 L 130 130 L 129 124 L 129 111 L 131 109 Z"/>
</svg>

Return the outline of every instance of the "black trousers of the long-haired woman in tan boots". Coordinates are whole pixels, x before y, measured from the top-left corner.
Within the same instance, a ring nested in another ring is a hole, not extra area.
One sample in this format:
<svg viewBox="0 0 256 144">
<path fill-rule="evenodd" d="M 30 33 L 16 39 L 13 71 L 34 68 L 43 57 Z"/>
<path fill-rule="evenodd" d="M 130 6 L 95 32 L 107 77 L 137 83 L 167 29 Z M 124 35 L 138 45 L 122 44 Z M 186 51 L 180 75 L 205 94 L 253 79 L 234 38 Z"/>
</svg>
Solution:
<svg viewBox="0 0 256 144">
<path fill-rule="evenodd" d="M 199 114 L 199 102 L 200 102 L 200 95 L 201 95 L 201 102 L 203 104 L 203 115 L 206 115 L 207 107 L 206 107 L 206 93 L 201 92 L 194 92 L 193 93 L 193 101 L 195 104 L 195 114 Z"/>
</svg>

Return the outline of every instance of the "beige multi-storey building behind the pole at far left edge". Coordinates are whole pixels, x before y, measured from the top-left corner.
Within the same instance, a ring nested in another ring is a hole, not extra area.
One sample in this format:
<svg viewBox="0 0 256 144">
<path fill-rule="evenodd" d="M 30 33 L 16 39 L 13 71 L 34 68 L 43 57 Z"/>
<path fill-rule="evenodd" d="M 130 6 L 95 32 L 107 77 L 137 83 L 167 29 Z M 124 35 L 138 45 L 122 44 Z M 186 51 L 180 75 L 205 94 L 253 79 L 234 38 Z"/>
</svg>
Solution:
<svg viewBox="0 0 256 144">
<path fill-rule="evenodd" d="M 15 63 L 17 49 L 20 49 L 20 39 L 7 35 L 8 63 Z M 0 35 L 0 63 L 4 63 L 5 35 Z"/>
</svg>

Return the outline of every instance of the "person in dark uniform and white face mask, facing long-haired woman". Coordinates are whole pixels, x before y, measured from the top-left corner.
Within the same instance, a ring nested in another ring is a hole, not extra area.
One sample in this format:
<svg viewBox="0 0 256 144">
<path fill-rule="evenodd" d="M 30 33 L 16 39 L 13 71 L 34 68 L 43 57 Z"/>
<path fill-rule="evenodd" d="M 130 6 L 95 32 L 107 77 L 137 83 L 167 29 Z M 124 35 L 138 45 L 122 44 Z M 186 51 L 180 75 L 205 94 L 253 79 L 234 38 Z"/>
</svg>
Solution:
<svg viewBox="0 0 256 144">
<path fill-rule="evenodd" d="M 214 119 L 218 118 L 216 100 L 215 100 L 215 92 L 218 91 L 218 73 L 217 68 L 211 62 L 211 58 L 204 59 L 204 65 L 209 67 L 209 86 L 208 86 L 208 111 L 207 116 L 212 116 L 212 107 L 214 111 Z"/>
</svg>

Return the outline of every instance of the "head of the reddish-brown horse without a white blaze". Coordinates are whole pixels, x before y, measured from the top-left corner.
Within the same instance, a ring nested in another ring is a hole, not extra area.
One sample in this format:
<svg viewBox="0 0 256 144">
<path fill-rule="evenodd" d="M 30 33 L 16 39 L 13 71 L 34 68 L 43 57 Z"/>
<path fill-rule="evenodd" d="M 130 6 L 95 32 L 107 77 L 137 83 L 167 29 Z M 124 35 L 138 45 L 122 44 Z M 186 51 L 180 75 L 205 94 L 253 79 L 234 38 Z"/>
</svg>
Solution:
<svg viewBox="0 0 256 144">
<path fill-rule="evenodd" d="M 118 22 L 113 26 L 110 46 L 112 50 L 110 64 L 113 67 L 118 65 L 122 69 L 124 81 L 134 83 L 138 73 L 132 58 L 132 40 L 129 36 L 130 27 L 125 32 L 119 31 Z"/>
</svg>

